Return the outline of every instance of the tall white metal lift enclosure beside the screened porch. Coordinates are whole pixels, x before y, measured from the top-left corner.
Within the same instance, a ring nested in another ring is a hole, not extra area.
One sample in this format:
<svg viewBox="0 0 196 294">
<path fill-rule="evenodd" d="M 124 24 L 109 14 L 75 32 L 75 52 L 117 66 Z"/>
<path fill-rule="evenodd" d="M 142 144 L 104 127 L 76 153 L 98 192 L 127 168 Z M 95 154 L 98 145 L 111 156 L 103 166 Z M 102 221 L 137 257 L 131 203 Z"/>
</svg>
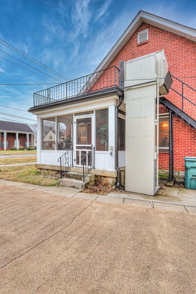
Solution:
<svg viewBox="0 0 196 294">
<path fill-rule="evenodd" d="M 164 60 L 162 50 L 126 62 L 126 191 L 149 195 L 156 191 L 156 99 L 158 104 L 161 84 L 156 78 L 164 78 Z"/>
</svg>

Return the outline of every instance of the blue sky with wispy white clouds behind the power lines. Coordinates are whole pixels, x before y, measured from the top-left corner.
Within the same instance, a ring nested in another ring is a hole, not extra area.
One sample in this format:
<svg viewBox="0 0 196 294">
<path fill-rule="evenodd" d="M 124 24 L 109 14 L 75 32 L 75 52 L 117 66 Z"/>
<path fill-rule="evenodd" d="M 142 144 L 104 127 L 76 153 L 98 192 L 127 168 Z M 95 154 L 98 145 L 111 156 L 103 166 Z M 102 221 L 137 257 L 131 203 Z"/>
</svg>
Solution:
<svg viewBox="0 0 196 294">
<path fill-rule="evenodd" d="M 195 1 L 1 0 L 0 42 L 12 45 L 72 80 L 96 69 L 140 10 L 196 28 Z M 33 92 L 52 86 L 47 85 L 51 81 L 60 83 L 65 79 L 44 70 L 2 43 L 0 84 L 43 85 L 0 85 L 0 105 L 20 109 L 0 106 L 0 120 L 31 123 L 33 121 L 2 113 L 36 119 L 35 115 L 21 111 L 33 106 Z"/>
</svg>

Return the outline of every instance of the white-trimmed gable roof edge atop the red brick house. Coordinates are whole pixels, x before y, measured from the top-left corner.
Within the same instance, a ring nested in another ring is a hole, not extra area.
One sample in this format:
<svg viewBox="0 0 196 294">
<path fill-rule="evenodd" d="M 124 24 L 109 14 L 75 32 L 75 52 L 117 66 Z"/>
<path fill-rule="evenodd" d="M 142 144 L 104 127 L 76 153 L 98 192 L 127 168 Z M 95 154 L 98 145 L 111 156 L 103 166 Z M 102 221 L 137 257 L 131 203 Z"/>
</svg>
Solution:
<svg viewBox="0 0 196 294">
<path fill-rule="evenodd" d="M 111 48 L 110 52 L 106 55 L 104 60 L 96 68 L 95 72 L 105 69 L 109 66 L 109 64 L 112 62 L 115 56 L 119 53 L 122 47 L 126 44 L 126 42 L 138 29 L 138 27 L 142 24 L 142 22 L 145 22 L 149 25 L 153 25 L 158 28 L 162 28 L 163 30 L 172 32 L 176 35 L 185 37 L 189 40 L 196 42 L 196 30 L 194 28 L 189 28 L 185 25 L 180 25 L 174 21 L 169 21 L 163 17 L 159 17 L 154 14 L 140 10 L 139 13 L 136 15 L 136 17 L 134 18 L 134 20 L 130 23 L 128 28 L 125 30 L 123 35 L 119 38 L 119 40 Z"/>
</svg>

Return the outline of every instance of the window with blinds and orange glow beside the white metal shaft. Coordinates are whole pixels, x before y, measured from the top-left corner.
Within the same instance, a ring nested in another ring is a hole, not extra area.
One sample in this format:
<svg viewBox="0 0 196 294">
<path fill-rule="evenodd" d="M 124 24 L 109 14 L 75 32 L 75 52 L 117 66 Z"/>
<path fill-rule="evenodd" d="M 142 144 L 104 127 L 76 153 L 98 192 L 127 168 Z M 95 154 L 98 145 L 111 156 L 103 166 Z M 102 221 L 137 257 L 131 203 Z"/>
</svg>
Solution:
<svg viewBox="0 0 196 294">
<path fill-rule="evenodd" d="M 159 117 L 159 148 L 169 148 L 169 116 Z"/>
</svg>

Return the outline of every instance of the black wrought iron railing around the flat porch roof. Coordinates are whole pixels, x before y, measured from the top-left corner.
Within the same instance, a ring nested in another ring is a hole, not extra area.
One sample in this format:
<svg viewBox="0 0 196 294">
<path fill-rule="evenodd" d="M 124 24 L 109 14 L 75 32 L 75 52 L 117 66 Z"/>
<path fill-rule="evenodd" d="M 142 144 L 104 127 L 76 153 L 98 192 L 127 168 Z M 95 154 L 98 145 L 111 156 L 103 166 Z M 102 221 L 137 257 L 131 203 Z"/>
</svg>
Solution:
<svg viewBox="0 0 196 294">
<path fill-rule="evenodd" d="M 34 106 L 113 86 L 119 86 L 119 69 L 116 66 L 36 92 L 34 93 Z"/>
</svg>

